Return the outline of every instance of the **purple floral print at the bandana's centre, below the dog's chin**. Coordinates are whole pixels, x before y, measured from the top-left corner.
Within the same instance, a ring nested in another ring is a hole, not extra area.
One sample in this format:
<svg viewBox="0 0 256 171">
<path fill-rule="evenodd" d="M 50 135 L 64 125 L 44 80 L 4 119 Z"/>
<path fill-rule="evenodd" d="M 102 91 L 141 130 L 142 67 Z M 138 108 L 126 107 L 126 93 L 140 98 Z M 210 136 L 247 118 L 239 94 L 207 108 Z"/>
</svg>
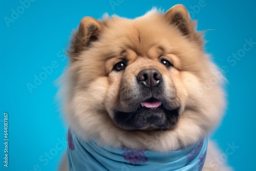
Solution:
<svg viewBox="0 0 256 171">
<path fill-rule="evenodd" d="M 145 149 L 133 150 L 127 147 L 122 147 L 121 149 L 125 151 L 123 158 L 126 161 L 131 163 L 145 163 L 148 160 L 144 154 Z"/>
</svg>

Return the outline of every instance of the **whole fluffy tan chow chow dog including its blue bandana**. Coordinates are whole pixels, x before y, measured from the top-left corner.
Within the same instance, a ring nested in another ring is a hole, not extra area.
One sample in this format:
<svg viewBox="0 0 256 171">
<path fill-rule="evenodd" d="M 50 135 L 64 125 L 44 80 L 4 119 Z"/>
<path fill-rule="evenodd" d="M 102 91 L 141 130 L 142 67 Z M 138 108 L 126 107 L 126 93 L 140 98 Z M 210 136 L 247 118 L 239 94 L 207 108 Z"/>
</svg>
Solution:
<svg viewBox="0 0 256 171">
<path fill-rule="evenodd" d="M 207 138 L 225 109 L 225 79 L 183 5 L 84 17 L 69 57 L 60 170 L 231 170 Z"/>
</svg>

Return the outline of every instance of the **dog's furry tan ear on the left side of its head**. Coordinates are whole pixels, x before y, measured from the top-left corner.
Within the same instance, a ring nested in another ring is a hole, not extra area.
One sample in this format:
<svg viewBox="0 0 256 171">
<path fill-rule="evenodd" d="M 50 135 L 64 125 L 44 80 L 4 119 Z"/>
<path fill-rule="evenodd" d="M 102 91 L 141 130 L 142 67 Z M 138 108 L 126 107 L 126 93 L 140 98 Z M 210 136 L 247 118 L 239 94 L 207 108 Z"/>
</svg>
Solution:
<svg viewBox="0 0 256 171">
<path fill-rule="evenodd" d="M 73 34 L 70 47 L 71 61 L 77 60 L 78 54 L 89 49 L 93 41 L 97 41 L 102 30 L 101 23 L 92 17 L 83 17 L 79 28 Z"/>
</svg>

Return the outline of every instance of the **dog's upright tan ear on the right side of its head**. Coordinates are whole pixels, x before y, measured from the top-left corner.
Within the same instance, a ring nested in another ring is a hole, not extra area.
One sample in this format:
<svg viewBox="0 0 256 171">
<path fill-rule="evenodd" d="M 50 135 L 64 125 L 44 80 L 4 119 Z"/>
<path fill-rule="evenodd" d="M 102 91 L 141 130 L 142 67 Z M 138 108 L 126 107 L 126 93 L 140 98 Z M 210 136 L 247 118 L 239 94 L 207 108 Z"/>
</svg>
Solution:
<svg viewBox="0 0 256 171">
<path fill-rule="evenodd" d="M 175 5 L 166 11 L 164 16 L 169 24 L 175 25 L 184 36 L 187 36 L 191 40 L 195 40 L 199 46 L 203 48 L 203 33 L 196 31 L 197 22 L 191 21 L 186 7 L 180 4 Z"/>
</svg>

